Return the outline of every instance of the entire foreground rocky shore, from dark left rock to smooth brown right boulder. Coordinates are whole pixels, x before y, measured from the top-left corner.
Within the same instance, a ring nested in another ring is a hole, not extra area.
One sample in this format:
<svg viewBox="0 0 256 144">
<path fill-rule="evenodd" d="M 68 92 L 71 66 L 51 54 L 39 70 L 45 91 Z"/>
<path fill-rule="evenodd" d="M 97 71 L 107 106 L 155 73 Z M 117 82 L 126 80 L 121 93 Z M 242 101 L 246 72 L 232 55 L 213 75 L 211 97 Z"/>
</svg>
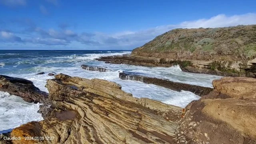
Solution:
<svg viewBox="0 0 256 144">
<path fill-rule="evenodd" d="M 42 102 L 39 112 L 44 120 L 14 128 L 5 136 L 22 140 L 4 140 L 2 135 L 0 144 L 256 143 L 254 78 L 214 80 L 214 90 L 182 109 L 148 98 L 134 98 L 114 82 L 65 74 L 54 77 L 47 80 L 48 97 L 34 96 L 41 91 L 29 81 L 1 77 L 1 91 L 12 93 L 19 88 L 13 94 Z M 24 140 L 25 137 L 48 139 Z"/>
</svg>

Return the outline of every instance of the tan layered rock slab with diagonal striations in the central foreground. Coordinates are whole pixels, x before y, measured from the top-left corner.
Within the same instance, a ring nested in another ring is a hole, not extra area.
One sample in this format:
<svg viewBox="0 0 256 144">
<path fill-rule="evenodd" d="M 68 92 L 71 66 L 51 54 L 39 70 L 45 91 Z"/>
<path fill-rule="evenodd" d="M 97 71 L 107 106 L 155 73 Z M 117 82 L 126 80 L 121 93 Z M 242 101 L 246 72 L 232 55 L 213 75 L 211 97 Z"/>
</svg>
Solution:
<svg viewBox="0 0 256 144">
<path fill-rule="evenodd" d="M 54 107 L 50 116 L 15 128 L 11 136 L 54 139 L 14 143 L 171 144 L 176 138 L 180 107 L 134 98 L 106 80 L 58 74 L 47 80 L 46 87 Z"/>
</svg>

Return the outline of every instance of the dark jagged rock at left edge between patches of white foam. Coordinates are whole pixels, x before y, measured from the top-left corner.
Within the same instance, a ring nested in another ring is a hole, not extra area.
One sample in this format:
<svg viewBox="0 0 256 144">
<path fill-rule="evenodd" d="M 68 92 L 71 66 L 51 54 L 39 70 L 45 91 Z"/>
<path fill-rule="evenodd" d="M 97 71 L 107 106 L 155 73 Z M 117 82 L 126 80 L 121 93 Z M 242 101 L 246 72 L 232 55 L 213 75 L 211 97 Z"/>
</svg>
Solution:
<svg viewBox="0 0 256 144">
<path fill-rule="evenodd" d="M 30 80 L 4 75 L 0 75 L 0 91 L 20 96 L 26 102 L 44 102 L 48 98 L 48 94 L 36 88 Z"/>
</svg>

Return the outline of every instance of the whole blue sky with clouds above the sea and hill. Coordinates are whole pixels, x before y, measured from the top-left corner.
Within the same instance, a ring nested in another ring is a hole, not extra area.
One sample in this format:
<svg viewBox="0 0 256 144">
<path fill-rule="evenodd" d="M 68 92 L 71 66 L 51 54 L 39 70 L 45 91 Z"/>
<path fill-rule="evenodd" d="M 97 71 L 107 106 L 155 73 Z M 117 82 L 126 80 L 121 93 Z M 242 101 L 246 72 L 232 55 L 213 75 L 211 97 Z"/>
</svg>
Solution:
<svg viewBox="0 0 256 144">
<path fill-rule="evenodd" d="M 132 50 L 174 28 L 256 24 L 255 0 L 0 0 L 0 49 Z"/>
</svg>

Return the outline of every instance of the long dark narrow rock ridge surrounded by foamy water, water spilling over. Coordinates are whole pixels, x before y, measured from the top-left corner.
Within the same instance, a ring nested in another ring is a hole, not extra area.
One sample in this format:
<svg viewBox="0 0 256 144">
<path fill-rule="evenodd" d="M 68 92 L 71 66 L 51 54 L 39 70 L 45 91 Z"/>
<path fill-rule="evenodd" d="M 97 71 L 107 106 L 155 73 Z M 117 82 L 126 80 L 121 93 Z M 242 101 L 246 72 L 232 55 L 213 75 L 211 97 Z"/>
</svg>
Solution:
<svg viewBox="0 0 256 144">
<path fill-rule="evenodd" d="M 141 75 L 139 73 L 135 73 L 135 72 L 120 72 L 119 78 L 122 80 L 136 80 L 136 81 L 144 82 L 146 84 L 155 84 L 155 85 L 169 88 L 171 90 L 175 90 L 178 92 L 180 92 L 181 90 L 190 91 L 198 96 L 204 96 L 213 90 L 212 88 L 207 88 L 207 87 L 203 87 L 203 86 L 196 86 L 196 85 L 192 85 L 192 84 L 172 82 L 172 81 L 166 80 L 166 79 L 143 76 L 143 75 Z"/>
</svg>

